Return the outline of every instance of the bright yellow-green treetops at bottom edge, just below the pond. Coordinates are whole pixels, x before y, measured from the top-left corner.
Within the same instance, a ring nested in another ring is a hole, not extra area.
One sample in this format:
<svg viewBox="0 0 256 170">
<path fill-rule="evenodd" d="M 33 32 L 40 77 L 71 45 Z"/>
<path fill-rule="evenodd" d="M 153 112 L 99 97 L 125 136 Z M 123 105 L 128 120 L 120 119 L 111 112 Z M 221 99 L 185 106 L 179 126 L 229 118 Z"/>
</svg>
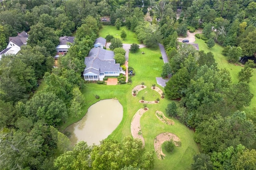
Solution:
<svg viewBox="0 0 256 170">
<path fill-rule="evenodd" d="M 127 136 L 123 141 L 104 140 L 91 152 L 92 167 L 95 169 L 121 169 L 133 166 L 153 169 L 154 154 L 145 150 L 142 141 Z"/>
</svg>

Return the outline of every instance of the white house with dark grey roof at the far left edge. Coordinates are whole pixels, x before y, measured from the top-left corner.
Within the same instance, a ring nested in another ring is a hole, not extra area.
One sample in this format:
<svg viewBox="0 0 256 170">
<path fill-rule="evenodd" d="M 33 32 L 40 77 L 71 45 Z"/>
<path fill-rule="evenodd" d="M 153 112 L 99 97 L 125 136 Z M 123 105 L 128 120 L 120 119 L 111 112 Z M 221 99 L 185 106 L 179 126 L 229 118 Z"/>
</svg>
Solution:
<svg viewBox="0 0 256 170">
<path fill-rule="evenodd" d="M 20 51 L 22 45 L 26 45 L 28 40 L 28 34 L 26 32 L 18 33 L 16 37 L 9 37 L 9 43 L 3 51 L 0 52 L 0 59 L 2 55 L 16 55 Z"/>
</svg>

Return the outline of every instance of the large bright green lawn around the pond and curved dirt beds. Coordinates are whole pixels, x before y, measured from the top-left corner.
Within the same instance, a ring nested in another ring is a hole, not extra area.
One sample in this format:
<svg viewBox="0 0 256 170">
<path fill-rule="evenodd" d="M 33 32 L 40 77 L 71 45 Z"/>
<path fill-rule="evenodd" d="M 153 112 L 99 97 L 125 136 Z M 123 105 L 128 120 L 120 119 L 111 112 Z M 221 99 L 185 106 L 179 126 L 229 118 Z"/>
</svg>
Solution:
<svg viewBox="0 0 256 170">
<path fill-rule="evenodd" d="M 142 54 L 144 51 L 145 54 Z M 160 50 L 142 48 L 137 53 L 129 54 L 130 67 L 133 67 L 136 74 L 132 77 L 132 84 L 128 85 L 98 85 L 96 83 L 85 84 L 84 99 L 86 104 L 84 105 L 84 113 L 86 113 L 90 105 L 96 103 L 100 99 L 116 98 L 120 101 L 123 106 L 123 119 L 118 125 L 118 127 L 108 136 L 118 141 L 121 141 L 127 135 L 131 135 L 130 124 L 132 117 L 138 111 L 138 109 L 143 108 L 144 103 L 139 103 L 141 97 L 144 96 L 145 100 L 153 101 L 157 98 L 160 102 L 157 104 L 147 104 L 149 110 L 140 119 L 142 134 L 145 139 L 146 150 L 154 150 L 154 138 L 162 132 L 172 132 L 176 134 L 181 142 L 182 146 L 176 148 L 176 151 L 172 154 L 167 154 L 164 160 L 159 160 L 157 156 L 155 169 L 190 169 L 190 164 L 192 163 L 193 155 L 198 153 L 198 146 L 194 142 L 193 136 L 194 132 L 182 125 L 179 121 L 174 119 L 174 125 L 166 125 L 158 120 L 155 115 L 156 110 L 160 110 L 165 113 L 165 108 L 167 107 L 170 100 L 167 98 L 162 99 L 158 93 L 151 89 L 152 84 L 156 84 L 156 77 L 160 77 L 162 72 L 163 60 L 159 57 L 161 56 Z M 147 86 L 145 89 L 140 91 L 136 97 L 132 96 L 132 89 L 136 85 L 140 85 L 142 82 Z M 160 87 L 164 90 L 164 88 Z M 99 95 L 100 99 L 96 99 L 95 95 Z M 108 109 L 108 108 L 106 108 Z M 73 122 L 78 121 L 82 118 L 71 118 L 62 126 L 62 130 Z M 92 129 L 93 130 L 93 129 Z M 96 135 L 96 134 L 95 134 Z"/>
</svg>

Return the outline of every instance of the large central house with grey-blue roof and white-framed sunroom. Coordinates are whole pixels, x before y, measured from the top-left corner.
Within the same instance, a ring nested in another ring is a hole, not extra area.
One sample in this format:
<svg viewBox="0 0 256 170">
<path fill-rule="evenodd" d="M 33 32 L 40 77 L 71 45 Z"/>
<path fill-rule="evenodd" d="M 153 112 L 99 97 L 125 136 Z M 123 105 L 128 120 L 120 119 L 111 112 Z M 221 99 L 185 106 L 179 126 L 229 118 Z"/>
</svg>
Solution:
<svg viewBox="0 0 256 170">
<path fill-rule="evenodd" d="M 105 76 L 119 76 L 125 74 L 119 63 L 115 63 L 114 52 L 100 47 L 90 50 L 88 57 L 85 57 L 84 80 L 103 80 Z"/>
</svg>

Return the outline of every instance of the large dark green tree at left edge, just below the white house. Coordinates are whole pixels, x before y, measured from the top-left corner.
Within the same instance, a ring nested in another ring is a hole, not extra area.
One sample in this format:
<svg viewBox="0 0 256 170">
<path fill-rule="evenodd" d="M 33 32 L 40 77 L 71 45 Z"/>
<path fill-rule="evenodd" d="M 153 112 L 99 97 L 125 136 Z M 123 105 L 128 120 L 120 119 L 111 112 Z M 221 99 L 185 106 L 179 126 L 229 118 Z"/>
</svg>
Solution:
<svg viewBox="0 0 256 170">
<path fill-rule="evenodd" d="M 28 99 L 37 82 L 34 70 L 18 57 L 8 55 L 0 60 L 0 99 L 17 102 Z"/>
</svg>

